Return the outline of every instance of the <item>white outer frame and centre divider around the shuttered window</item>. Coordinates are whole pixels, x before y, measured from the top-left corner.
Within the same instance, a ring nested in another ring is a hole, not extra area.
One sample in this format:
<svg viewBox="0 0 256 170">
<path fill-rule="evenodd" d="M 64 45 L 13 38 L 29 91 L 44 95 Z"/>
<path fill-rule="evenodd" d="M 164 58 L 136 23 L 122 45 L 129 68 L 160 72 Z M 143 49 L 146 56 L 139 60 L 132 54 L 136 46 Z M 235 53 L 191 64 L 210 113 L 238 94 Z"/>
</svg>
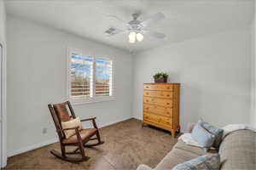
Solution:
<svg viewBox="0 0 256 170">
<path fill-rule="evenodd" d="M 84 99 L 73 99 L 71 97 L 71 54 L 81 54 L 84 56 L 91 56 L 93 58 L 93 95 L 89 98 Z M 112 61 L 112 95 L 111 96 L 96 96 L 96 59 L 109 59 Z M 83 52 L 82 50 L 76 49 L 76 48 L 67 48 L 67 99 L 73 104 L 73 105 L 83 105 L 88 103 L 95 103 L 95 102 L 106 102 L 106 101 L 113 101 L 115 99 L 114 97 L 114 58 L 113 57 L 105 57 L 102 55 L 99 57 L 98 54 L 88 54 Z"/>
</svg>

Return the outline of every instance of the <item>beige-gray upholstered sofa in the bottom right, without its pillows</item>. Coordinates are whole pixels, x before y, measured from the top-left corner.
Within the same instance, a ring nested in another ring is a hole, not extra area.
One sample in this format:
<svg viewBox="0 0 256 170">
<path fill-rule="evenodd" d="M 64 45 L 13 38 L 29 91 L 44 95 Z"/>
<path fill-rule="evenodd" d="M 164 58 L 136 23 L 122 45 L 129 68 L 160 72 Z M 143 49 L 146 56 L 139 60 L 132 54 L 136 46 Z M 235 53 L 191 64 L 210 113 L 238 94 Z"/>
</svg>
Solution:
<svg viewBox="0 0 256 170">
<path fill-rule="evenodd" d="M 255 170 L 256 133 L 250 130 L 238 130 L 228 134 L 219 148 L 221 170 Z M 210 150 L 209 152 L 216 153 Z M 154 170 L 172 170 L 179 163 L 189 161 L 206 152 L 199 147 L 178 141 Z M 153 170 L 147 165 L 140 165 L 137 170 Z"/>
</svg>

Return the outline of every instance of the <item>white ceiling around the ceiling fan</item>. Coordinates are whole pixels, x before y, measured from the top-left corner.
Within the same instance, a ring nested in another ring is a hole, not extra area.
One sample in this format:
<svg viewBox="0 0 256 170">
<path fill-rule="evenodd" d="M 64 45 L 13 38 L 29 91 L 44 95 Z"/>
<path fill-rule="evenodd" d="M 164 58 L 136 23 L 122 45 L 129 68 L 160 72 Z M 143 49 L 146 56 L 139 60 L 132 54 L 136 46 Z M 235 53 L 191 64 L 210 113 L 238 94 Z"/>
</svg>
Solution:
<svg viewBox="0 0 256 170">
<path fill-rule="evenodd" d="M 6 0 L 8 14 L 41 22 L 81 37 L 131 51 L 146 50 L 171 42 L 224 31 L 252 23 L 253 0 Z M 150 30 L 166 34 L 164 40 L 145 37 L 143 42 L 128 43 L 128 35 L 106 37 L 109 26 L 119 27 L 108 15 L 139 20 L 162 12 L 166 15 Z"/>
</svg>

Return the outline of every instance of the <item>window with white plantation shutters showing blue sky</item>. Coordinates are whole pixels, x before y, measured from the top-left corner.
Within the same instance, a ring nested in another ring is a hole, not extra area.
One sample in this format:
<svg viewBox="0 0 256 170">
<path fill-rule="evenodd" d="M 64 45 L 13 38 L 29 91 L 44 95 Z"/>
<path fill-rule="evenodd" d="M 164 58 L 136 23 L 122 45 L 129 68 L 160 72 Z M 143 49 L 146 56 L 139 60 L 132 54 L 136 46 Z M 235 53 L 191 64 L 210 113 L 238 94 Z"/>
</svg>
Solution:
<svg viewBox="0 0 256 170">
<path fill-rule="evenodd" d="M 68 54 L 68 98 L 76 103 L 113 99 L 113 59 Z"/>
</svg>

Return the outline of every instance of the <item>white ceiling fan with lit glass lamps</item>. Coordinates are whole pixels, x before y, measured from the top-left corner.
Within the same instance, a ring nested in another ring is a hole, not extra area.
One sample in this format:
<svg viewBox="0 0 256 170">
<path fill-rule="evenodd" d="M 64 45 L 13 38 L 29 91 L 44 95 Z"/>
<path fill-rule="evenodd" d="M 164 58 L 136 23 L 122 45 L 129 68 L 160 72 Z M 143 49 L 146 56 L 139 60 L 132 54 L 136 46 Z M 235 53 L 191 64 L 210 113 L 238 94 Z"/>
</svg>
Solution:
<svg viewBox="0 0 256 170">
<path fill-rule="evenodd" d="M 115 27 L 111 26 L 110 28 L 108 28 L 107 31 L 105 31 L 105 33 L 108 36 L 129 33 L 128 38 L 129 38 L 130 43 L 143 41 L 143 38 L 145 35 L 148 35 L 150 37 L 159 38 L 159 39 L 166 37 L 166 35 L 163 33 L 149 31 L 147 29 L 147 27 L 149 25 L 153 25 L 157 21 L 165 19 L 164 14 L 162 14 L 162 13 L 154 14 L 151 18 L 149 18 L 148 20 L 144 20 L 144 21 L 137 20 L 139 16 L 140 16 L 140 14 L 132 14 L 133 20 L 131 20 L 130 22 L 125 22 L 125 20 L 122 20 L 117 16 L 109 15 L 108 17 L 118 20 L 124 28 L 119 29 L 119 28 L 115 28 Z"/>
</svg>

